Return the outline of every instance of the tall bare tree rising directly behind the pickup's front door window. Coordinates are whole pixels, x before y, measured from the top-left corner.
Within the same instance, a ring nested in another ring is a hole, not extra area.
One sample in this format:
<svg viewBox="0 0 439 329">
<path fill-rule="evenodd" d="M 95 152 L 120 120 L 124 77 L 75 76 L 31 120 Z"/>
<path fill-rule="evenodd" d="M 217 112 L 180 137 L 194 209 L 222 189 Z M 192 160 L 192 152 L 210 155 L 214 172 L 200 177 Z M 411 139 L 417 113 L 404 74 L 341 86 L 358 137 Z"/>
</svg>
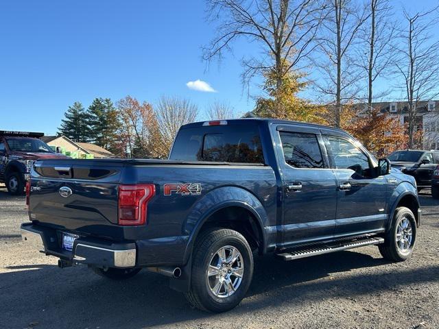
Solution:
<svg viewBox="0 0 439 329">
<path fill-rule="evenodd" d="M 369 17 L 366 8 L 351 0 L 327 0 L 328 14 L 323 22 L 320 51 L 323 60 L 316 64 L 322 81 L 316 83 L 318 93 L 327 97 L 333 109 L 333 125 L 340 127 L 342 106 L 359 93 L 358 70 L 352 46 L 359 42 L 359 30 Z"/>
</svg>

